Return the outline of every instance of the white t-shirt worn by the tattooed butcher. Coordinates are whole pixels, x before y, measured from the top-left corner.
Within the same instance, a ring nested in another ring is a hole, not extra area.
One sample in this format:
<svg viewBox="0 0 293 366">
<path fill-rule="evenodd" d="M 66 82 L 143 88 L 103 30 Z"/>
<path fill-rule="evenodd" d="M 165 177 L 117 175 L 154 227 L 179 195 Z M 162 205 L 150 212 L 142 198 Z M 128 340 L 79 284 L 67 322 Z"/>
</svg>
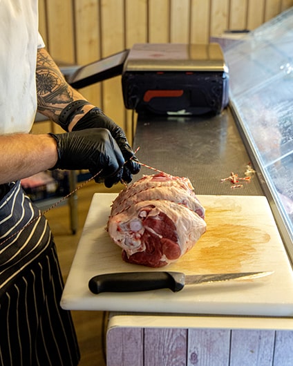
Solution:
<svg viewBox="0 0 293 366">
<path fill-rule="evenodd" d="M 37 0 L 0 0 L 0 134 L 28 133 L 37 110 Z"/>
</svg>

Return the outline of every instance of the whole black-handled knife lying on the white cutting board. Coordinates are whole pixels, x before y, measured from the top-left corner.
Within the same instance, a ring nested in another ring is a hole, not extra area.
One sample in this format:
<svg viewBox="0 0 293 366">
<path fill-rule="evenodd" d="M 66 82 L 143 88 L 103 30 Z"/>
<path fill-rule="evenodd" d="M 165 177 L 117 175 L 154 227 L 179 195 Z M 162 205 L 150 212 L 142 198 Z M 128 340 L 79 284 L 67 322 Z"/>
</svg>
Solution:
<svg viewBox="0 0 293 366">
<path fill-rule="evenodd" d="M 88 287 L 93 293 L 101 292 L 133 292 L 156 289 L 170 289 L 177 292 L 185 285 L 198 285 L 204 282 L 219 282 L 227 280 L 253 280 L 269 276 L 273 271 L 243 272 L 243 273 L 215 273 L 205 275 L 185 276 L 181 272 L 146 271 L 105 273 L 94 276 L 88 281 Z"/>
</svg>

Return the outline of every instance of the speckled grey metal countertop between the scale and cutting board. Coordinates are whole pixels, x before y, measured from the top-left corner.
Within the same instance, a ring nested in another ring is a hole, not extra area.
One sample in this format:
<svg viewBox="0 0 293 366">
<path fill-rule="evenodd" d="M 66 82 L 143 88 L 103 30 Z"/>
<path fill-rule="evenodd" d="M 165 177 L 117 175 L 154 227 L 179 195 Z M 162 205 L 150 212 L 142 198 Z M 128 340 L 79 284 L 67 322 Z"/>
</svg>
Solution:
<svg viewBox="0 0 293 366">
<path fill-rule="evenodd" d="M 133 142 L 140 162 L 171 175 L 189 177 L 200 195 L 263 195 L 256 175 L 243 188 L 221 182 L 231 172 L 245 177 L 250 159 L 229 108 L 221 115 L 139 115 Z M 153 174 L 142 167 L 135 175 Z"/>
</svg>

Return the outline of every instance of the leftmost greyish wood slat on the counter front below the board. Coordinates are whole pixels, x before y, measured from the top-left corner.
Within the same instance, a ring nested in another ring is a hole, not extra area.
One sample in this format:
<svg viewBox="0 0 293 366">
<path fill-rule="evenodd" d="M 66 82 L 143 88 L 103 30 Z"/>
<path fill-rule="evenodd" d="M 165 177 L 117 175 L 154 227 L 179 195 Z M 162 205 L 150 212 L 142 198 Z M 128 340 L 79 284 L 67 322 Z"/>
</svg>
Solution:
<svg viewBox="0 0 293 366">
<path fill-rule="evenodd" d="M 107 334 L 107 366 L 144 366 L 143 329 L 113 328 Z"/>
</svg>

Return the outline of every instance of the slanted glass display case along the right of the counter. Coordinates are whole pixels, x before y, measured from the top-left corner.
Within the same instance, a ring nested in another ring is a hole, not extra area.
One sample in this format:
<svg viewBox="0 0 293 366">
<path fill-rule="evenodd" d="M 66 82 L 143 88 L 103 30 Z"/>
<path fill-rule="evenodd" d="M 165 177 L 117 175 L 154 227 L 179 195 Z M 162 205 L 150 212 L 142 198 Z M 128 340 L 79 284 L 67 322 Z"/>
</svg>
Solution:
<svg viewBox="0 0 293 366">
<path fill-rule="evenodd" d="M 225 50 L 230 101 L 293 260 L 293 8 Z"/>
</svg>

